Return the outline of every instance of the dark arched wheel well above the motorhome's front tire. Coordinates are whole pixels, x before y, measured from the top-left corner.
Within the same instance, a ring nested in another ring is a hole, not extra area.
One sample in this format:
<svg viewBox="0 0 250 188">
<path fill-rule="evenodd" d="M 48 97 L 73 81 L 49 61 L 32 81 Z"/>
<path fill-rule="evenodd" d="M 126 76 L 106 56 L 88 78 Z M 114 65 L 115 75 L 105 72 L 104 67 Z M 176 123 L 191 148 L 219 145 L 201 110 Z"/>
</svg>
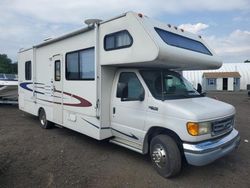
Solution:
<svg viewBox="0 0 250 188">
<path fill-rule="evenodd" d="M 180 152 L 183 154 L 183 147 L 182 147 L 182 141 L 180 139 L 180 137 L 172 130 L 167 129 L 167 128 L 163 128 L 163 127 L 151 127 L 144 139 L 144 143 L 143 143 L 143 153 L 147 154 L 149 152 L 149 146 L 150 146 L 150 142 L 152 140 L 153 137 L 159 135 L 159 134 L 165 134 L 170 136 L 171 138 L 173 138 L 175 140 L 175 142 L 177 143 L 178 148 L 180 149 Z"/>
</svg>

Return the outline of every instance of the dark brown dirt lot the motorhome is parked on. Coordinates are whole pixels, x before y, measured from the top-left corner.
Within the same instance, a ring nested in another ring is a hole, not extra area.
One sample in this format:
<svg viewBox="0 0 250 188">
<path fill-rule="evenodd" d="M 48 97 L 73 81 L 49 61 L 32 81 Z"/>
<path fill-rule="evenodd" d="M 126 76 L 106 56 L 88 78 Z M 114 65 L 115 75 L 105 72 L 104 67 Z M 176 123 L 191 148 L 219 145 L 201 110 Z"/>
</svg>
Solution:
<svg viewBox="0 0 250 188">
<path fill-rule="evenodd" d="M 210 93 L 237 109 L 237 151 L 204 167 L 185 165 L 160 177 L 148 156 L 68 129 L 43 130 L 36 117 L 0 105 L 0 188 L 5 187 L 250 187 L 250 99 Z"/>
</svg>

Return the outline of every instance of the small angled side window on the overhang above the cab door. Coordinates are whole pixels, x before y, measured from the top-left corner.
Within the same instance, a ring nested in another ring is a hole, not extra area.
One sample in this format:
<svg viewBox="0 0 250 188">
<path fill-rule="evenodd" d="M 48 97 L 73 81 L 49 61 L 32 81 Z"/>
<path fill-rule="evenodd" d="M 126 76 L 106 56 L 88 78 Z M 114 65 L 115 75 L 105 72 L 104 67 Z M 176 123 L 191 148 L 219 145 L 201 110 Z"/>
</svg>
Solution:
<svg viewBox="0 0 250 188">
<path fill-rule="evenodd" d="M 133 39 L 127 30 L 111 33 L 104 37 L 104 49 L 106 51 L 128 48 L 132 43 Z"/>
</svg>

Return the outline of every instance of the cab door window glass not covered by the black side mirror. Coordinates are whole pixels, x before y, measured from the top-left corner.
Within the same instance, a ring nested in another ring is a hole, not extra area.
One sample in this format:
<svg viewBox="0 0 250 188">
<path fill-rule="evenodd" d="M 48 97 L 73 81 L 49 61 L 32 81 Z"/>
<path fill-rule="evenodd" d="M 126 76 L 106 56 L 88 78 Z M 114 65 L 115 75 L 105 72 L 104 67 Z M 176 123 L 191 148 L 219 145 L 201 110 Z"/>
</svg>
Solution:
<svg viewBox="0 0 250 188">
<path fill-rule="evenodd" d="M 142 96 L 144 98 L 144 88 L 135 73 L 121 73 L 118 85 L 124 85 L 126 87 L 126 101 L 140 100 Z"/>
</svg>

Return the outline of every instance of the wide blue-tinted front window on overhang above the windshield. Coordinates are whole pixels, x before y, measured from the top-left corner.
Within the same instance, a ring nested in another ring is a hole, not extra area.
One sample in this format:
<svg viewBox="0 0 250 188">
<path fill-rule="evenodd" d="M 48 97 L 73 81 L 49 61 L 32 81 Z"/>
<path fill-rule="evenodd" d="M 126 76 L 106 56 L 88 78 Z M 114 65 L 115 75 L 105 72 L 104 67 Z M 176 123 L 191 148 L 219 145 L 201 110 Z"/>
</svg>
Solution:
<svg viewBox="0 0 250 188">
<path fill-rule="evenodd" d="M 199 41 L 165 31 L 159 28 L 155 28 L 156 32 L 160 35 L 162 40 L 168 45 L 184 48 L 187 50 L 212 55 L 212 53 L 207 49 L 207 47 Z"/>
</svg>

